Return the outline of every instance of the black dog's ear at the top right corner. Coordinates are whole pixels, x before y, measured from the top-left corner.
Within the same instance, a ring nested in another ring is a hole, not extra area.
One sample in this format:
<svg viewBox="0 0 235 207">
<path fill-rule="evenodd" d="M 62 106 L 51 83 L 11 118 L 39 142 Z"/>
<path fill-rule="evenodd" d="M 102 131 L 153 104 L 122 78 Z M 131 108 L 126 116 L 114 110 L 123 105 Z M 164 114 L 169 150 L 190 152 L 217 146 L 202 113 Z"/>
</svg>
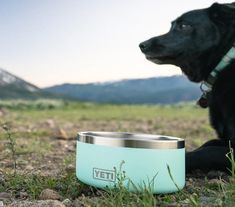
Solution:
<svg viewBox="0 0 235 207">
<path fill-rule="evenodd" d="M 213 21 L 223 24 L 235 24 L 235 2 L 231 4 L 214 3 L 208 10 Z"/>
</svg>

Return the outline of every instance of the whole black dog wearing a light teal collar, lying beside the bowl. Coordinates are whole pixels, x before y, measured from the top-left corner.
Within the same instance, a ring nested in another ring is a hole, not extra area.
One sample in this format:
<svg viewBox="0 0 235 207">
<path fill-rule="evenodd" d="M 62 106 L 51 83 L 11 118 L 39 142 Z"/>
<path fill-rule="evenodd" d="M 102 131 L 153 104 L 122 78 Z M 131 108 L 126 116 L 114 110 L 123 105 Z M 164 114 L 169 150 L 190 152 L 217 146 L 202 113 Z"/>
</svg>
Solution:
<svg viewBox="0 0 235 207">
<path fill-rule="evenodd" d="M 208 102 L 211 125 L 220 139 L 188 152 L 186 169 L 226 171 L 229 142 L 235 148 L 235 2 L 185 13 L 167 34 L 139 46 L 148 60 L 179 66 L 191 81 L 208 86 L 200 104 Z"/>
</svg>

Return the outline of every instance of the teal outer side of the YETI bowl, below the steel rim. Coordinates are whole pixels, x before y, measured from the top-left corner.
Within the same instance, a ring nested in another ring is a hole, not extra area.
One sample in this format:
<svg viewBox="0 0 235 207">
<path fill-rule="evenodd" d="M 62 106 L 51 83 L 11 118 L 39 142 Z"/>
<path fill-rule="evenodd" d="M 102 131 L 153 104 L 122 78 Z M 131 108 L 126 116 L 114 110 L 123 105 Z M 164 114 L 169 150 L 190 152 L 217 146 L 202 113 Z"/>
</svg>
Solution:
<svg viewBox="0 0 235 207">
<path fill-rule="evenodd" d="M 98 188 L 172 193 L 185 185 L 185 148 L 145 149 L 77 141 L 76 175 Z M 121 183 L 120 183 L 121 182 Z"/>
</svg>

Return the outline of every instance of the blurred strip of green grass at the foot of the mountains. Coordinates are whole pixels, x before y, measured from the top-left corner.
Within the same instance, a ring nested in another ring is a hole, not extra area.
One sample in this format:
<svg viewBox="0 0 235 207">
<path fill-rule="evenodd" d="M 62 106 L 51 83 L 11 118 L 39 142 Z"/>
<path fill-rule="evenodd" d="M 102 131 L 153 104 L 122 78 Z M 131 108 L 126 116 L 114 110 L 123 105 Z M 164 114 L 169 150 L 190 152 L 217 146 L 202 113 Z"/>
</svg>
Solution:
<svg viewBox="0 0 235 207">
<path fill-rule="evenodd" d="M 45 100 L 31 101 L 1 101 L 0 108 L 4 107 L 15 111 L 21 110 L 20 119 L 27 118 L 28 115 L 38 119 L 38 110 L 40 118 L 63 118 L 69 121 L 79 120 L 133 120 L 133 119 L 152 119 L 156 116 L 167 118 L 195 118 L 206 114 L 205 111 L 194 105 L 113 105 L 113 104 L 94 104 L 94 103 L 76 103 L 63 101 Z M 192 110 L 192 108 L 194 110 Z M 179 110 L 177 110 L 179 109 Z M 55 113 L 56 111 L 56 113 Z M 173 112 L 173 113 L 172 113 Z"/>
</svg>

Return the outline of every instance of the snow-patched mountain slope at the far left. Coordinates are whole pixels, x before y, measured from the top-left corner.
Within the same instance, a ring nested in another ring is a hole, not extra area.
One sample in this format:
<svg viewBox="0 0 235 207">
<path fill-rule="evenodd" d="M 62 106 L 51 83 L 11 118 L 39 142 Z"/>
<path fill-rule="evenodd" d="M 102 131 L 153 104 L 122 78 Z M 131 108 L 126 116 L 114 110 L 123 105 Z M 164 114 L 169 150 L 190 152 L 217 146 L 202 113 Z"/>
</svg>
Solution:
<svg viewBox="0 0 235 207">
<path fill-rule="evenodd" d="M 52 98 L 54 95 L 0 68 L 0 99 Z"/>
</svg>

